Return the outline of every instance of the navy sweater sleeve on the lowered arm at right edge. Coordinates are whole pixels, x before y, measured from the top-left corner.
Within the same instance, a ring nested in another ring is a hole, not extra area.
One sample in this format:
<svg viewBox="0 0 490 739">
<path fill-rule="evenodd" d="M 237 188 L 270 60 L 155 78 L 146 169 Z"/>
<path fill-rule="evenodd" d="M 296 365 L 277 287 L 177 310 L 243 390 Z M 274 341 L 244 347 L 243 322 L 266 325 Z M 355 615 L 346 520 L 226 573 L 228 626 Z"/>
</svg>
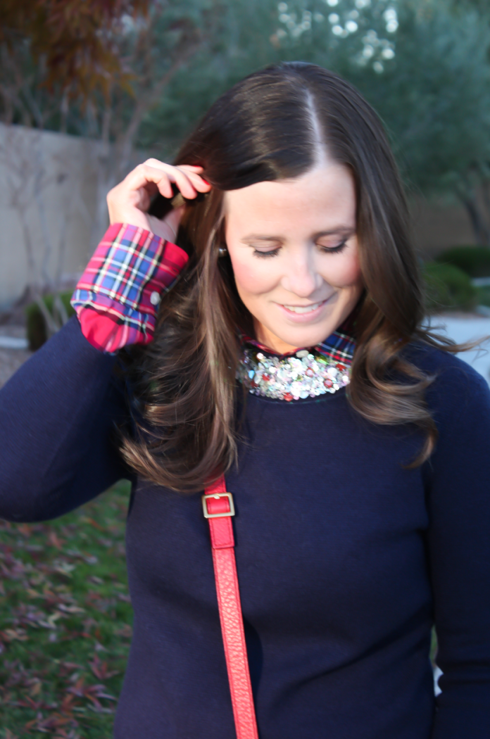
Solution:
<svg viewBox="0 0 490 739">
<path fill-rule="evenodd" d="M 490 737 L 490 392 L 462 365 L 447 373 L 429 463 L 428 554 L 443 672 L 432 739 Z"/>
</svg>

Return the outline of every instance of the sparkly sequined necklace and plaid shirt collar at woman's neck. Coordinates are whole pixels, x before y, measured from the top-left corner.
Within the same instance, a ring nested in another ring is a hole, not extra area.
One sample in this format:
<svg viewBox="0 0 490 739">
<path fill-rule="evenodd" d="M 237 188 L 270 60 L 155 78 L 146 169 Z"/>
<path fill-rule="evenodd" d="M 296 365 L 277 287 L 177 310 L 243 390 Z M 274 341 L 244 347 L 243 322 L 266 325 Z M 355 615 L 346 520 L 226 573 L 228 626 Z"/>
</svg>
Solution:
<svg viewBox="0 0 490 739">
<path fill-rule="evenodd" d="M 337 392 L 350 382 L 355 342 L 347 319 L 322 344 L 296 353 L 275 354 L 242 336 L 237 379 L 253 395 L 279 401 L 297 401 Z"/>
</svg>

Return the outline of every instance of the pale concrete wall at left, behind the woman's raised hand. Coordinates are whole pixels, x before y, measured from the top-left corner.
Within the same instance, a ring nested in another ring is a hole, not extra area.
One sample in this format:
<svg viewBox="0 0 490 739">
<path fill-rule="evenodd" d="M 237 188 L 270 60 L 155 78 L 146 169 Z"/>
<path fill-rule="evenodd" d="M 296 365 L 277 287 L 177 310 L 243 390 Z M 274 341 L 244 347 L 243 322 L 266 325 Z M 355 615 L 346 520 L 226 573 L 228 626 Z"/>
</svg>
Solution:
<svg viewBox="0 0 490 739">
<path fill-rule="evenodd" d="M 90 253 L 94 144 L 0 125 L 0 307 L 27 282 L 69 279 Z"/>
</svg>

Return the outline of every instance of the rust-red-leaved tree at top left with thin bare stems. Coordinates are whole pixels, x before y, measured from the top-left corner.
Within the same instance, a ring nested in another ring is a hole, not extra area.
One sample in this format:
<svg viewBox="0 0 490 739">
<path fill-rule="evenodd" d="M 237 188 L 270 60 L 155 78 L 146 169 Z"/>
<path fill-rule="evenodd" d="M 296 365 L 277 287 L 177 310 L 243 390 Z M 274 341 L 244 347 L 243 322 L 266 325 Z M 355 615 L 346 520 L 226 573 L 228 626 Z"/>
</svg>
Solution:
<svg viewBox="0 0 490 739">
<path fill-rule="evenodd" d="M 0 158 L 7 172 L 10 207 L 18 214 L 27 255 L 27 299 L 38 302 L 47 328 L 67 319 L 58 298 L 58 319 L 47 312 L 42 293 L 58 290 L 66 251 L 67 223 L 80 199 L 81 163 L 58 152 L 56 174 L 48 175 L 41 130 L 67 129 L 70 103 L 89 108 L 96 95 L 106 100 L 117 85 L 129 89 L 131 72 L 118 55 L 115 38 L 124 18 L 144 18 L 148 0 L 5 0 L 0 6 Z M 28 136 L 10 124 L 23 123 Z M 53 125 L 54 124 L 54 125 Z M 61 228 L 59 242 L 47 223 L 46 197 L 55 177 Z M 61 178 L 61 179 L 60 179 Z M 79 203 L 78 203 L 79 205 Z M 33 234 L 33 217 L 37 233 Z M 54 265 L 54 279 L 48 265 Z"/>
</svg>

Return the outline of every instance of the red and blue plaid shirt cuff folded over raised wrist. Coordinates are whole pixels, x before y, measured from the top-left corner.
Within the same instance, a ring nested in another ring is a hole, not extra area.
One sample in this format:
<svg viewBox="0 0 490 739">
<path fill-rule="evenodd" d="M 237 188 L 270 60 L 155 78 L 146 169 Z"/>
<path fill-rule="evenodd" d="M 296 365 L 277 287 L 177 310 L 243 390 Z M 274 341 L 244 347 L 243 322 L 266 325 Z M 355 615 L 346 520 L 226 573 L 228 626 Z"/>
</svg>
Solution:
<svg viewBox="0 0 490 739">
<path fill-rule="evenodd" d="M 85 338 L 110 353 L 152 341 L 160 296 L 187 261 L 183 249 L 151 231 L 109 226 L 72 295 Z"/>
</svg>

